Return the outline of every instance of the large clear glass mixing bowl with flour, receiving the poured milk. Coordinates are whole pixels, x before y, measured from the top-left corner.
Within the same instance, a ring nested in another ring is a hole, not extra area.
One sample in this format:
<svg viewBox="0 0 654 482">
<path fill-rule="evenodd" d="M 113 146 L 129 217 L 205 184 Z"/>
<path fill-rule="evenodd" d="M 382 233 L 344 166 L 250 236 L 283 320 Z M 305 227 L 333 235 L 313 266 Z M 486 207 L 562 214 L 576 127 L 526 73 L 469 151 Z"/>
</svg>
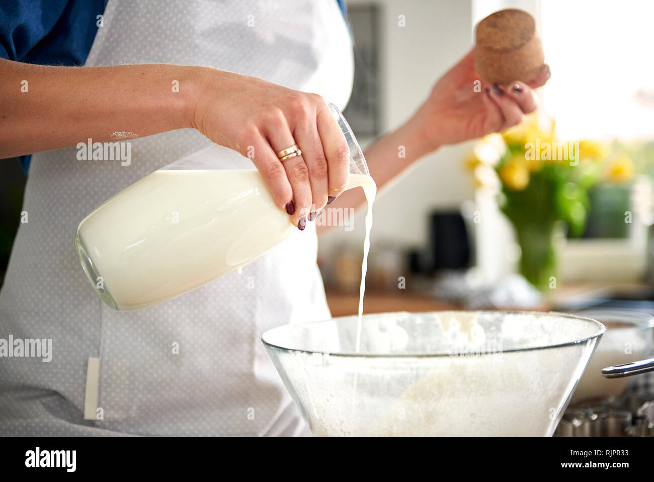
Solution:
<svg viewBox="0 0 654 482">
<path fill-rule="evenodd" d="M 368 314 L 262 341 L 315 436 L 551 436 L 604 325 L 570 314 Z"/>
</svg>

